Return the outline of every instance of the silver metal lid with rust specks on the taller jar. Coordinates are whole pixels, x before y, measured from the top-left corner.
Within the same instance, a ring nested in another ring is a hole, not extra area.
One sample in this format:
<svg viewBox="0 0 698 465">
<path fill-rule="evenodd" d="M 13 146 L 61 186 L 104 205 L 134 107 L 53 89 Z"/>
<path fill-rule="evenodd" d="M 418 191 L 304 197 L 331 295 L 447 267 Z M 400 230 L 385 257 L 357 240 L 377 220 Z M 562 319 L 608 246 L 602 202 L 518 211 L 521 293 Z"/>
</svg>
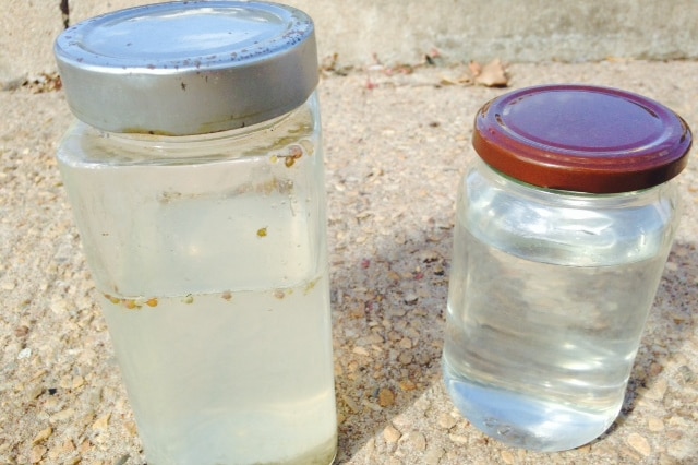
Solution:
<svg viewBox="0 0 698 465">
<path fill-rule="evenodd" d="M 318 80 L 310 16 L 256 1 L 109 13 L 63 32 L 55 53 L 73 114 L 112 132 L 242 128 L 297 108 Z"/>
</svg>

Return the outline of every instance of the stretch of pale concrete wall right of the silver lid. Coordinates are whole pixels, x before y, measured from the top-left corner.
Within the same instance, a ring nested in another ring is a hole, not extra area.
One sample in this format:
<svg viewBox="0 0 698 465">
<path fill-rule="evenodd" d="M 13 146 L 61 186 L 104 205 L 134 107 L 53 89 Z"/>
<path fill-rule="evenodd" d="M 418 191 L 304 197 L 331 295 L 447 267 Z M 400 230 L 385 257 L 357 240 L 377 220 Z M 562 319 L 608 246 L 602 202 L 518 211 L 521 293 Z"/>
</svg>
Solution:
<svg viewBox="0 0 698 465">
<path fill-rule="evenodd" d="M 696 0 L 297 0 L 323 51 L 365 63 L 698 58 Z"/>
</svg>

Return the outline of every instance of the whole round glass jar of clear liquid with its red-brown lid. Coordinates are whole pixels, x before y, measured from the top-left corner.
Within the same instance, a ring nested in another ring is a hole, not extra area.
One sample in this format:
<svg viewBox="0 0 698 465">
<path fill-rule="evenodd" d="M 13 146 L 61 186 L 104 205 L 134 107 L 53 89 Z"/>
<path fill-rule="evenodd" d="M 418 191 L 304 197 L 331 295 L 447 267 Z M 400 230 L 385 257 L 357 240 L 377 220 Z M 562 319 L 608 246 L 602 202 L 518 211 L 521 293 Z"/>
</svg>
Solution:
<svg viewBox="0 0 698 465">
<path fill-rule="evenodd" d="M 478 112 L 459 187 L 444 377 L 468 420 L 559 451 L 615 420 L 678 223 L 691 134 L 662 105 L 577 85 Z"/>
</svg>

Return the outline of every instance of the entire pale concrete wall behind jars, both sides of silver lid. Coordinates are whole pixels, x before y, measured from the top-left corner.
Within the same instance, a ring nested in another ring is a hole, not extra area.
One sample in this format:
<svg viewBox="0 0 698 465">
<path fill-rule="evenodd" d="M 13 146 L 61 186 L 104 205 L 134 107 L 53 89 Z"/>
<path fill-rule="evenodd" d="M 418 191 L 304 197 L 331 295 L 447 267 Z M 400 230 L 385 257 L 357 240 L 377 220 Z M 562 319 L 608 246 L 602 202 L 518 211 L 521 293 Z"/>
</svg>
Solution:
<svg viewBox="0 0 698 465">
<path fill-rule="evenodd" d="M 55 70 L 60 0 L 0 0 L 0 84 Z M 69 0 L 74 24 L 147 0 Z M 698 59 L 698 0 L 287 0 L 315 19 L 321 57 L 362 67 Z"/>
</svg>

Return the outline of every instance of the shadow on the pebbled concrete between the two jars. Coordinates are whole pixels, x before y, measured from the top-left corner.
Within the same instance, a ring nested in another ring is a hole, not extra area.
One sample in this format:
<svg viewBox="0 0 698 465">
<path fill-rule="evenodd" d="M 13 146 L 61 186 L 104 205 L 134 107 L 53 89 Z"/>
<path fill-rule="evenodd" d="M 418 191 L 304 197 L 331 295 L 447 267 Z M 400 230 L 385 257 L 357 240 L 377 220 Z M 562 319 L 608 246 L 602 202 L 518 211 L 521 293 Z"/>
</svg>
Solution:
<svg viewBox="0 0 698 465">
<path fill-rule="evenodd" d="M 373 255 L 332 263 L 336 463 L 370 441 L 375 457 L 394 452 L 392 419 L 441 382 L 450 228 L 414 235 L 402 245 L 378 238 Z"/>
</svg>

